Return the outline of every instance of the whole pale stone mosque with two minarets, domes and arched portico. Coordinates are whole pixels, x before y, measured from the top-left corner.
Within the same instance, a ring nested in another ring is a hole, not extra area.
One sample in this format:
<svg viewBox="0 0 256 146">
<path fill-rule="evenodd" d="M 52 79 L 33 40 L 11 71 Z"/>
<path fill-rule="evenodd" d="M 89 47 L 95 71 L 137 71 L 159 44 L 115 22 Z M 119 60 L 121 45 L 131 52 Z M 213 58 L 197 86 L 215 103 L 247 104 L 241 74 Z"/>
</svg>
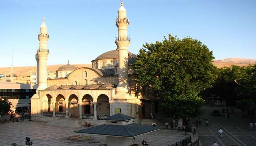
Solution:
<svg viewBox="0 0 256 146">
<path fill-rule="evenodd" d="M 141 97 L 135 96 L 134 70 L 136 55 L 128 51 L 131 42 L 127 34 L 129 20 L 121 2 L 116 18 L 118 37 L 116 50 L 107 51 L 92 61 L 92 67 L 76 68 L 68 64 L 56 71 L 56 78 L 47 79 L 49 34 L 43 19 L 38 35 L 37 92 L 31 98 L 31 115 L 37 120 L 55 117 L 92 120 L 102 124 L 104 118 L 114 114 L 135 117 L 138 122 L 144 113 Z M 149 112 L 147 111 L 147 115 Z"/>
</svg>

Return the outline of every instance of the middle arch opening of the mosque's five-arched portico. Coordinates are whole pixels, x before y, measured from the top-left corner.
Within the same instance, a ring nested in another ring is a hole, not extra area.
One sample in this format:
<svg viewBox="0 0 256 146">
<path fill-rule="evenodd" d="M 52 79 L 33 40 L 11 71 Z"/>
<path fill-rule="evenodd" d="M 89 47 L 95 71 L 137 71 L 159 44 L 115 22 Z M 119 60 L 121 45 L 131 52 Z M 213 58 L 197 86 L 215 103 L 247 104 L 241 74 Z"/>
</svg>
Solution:
<svg viewBox="0 0 256 146">
<path fill-rule="evenodd" d="M 75 94 L 71 94 L 68 97 L 68 115 L 69 117 L 79 116 L 79 99 Z"/>
</svg>

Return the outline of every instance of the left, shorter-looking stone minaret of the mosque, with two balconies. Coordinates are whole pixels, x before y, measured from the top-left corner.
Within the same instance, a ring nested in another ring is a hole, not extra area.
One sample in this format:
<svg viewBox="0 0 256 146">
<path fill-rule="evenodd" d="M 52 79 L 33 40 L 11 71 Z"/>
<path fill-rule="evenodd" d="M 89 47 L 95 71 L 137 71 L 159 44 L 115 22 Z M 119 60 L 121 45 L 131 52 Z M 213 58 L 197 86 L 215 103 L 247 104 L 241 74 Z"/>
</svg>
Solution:
<svg viewBox="0 0 256 146">
<path fill-rule="evenodd" d="M 47 57 L 49 55 L 49 49 L 47 49 L 47 41 L 49 39 L 49 34 L 47 33 L 47 27 L 45 25 L 45 18 L 43 18 L 43 23 L 40 27 L 40 34 L 38 34 L 39 49 L 37 49 L 37 54 L 35 59 L 37 60 L 37 82 L 38 90 L 43 90 L 47 88 Z"/>
</svg>

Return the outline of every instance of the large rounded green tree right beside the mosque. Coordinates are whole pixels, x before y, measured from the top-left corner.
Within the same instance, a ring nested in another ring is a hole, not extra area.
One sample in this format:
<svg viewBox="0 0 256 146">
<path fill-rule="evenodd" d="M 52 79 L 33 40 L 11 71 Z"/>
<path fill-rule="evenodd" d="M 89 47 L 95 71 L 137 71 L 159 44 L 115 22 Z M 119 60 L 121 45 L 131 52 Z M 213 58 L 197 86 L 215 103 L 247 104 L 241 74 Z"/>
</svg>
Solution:
<svg viewBox="0 0 256 146">
<path fill-rule="evenodd" d="M 200 115 L 204 101 L 198 93 L 217 77 L 212 51 L 196 39 L 172 35 L 143 47 L 134 64 L 137 93 L 161 99 L 168 117 Z"/>
</svg>

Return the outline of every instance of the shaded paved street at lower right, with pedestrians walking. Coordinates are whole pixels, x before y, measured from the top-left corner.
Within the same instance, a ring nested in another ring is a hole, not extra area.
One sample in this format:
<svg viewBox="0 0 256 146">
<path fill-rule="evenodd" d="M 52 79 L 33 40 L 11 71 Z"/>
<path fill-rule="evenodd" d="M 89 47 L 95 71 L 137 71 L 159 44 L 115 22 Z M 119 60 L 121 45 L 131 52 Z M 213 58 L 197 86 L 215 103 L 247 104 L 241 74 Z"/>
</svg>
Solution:
<svg viewBox="0 0 256 146">
<path fill-rule="evenodd" d="M 199 134 L 199 139 L 202 143 L 202 146 L 211 146 L 214 141 L 216 141 L 220 146 L 230 146 L 238 144 L 239 142 L 237 142 L 236 140 L 234 141 L 234 137 L 239 139 L 240 142 L 242 142 L 243 146 L 256 146 L 256 130 L 249 130 L 248 118 L 241 118 L 239 117 L 239 114 L 230 114 L 230 118 L 227 119 L 224 117 L 223 114 L 221 114 L 221 116 L 212 116 L 211 112 L 213 109 L 217 109 L 222 112 L 222 108 L 212 106 L 204 106 L 203 108 L 206 109 L 205 114 L 216 123 L 214 124 L 209 119 L 209 126 L 205 127 L 204 124 L 207 117 L 201 117 L 203 125 L 197 128 L 197 132 Z M 219 137 L 218 124 L 224 128 L 223 138 Z M 229 131 L 231 135 L 227 134 L 226 130 Z"/>
</svg>

